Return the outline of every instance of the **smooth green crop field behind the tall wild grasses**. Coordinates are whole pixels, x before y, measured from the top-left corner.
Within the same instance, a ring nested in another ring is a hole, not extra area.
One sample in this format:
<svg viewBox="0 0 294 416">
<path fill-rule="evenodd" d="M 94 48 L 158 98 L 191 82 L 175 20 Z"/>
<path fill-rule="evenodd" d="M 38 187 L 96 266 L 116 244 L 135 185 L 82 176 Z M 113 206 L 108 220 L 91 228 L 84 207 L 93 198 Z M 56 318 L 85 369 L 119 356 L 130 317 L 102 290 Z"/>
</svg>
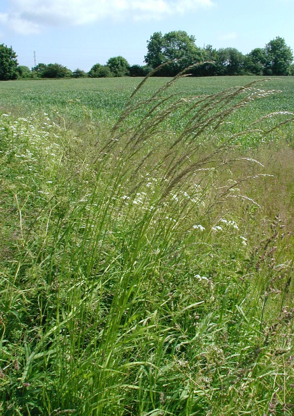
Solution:
<svg viewBox="0 0 294 416">
<path fill-rule="evenodd" d="M 240 86 L 252 82 L 252 79 L 261 81 L 262 77 L 202 77 L 182 78 L 170 87 L 170 93 L 179 96 L 194 96 L 202 94 L 215 94 L 227 88 Z M 11 81 L 0 84 L 0 106 L 5 112 L 15 112 L 23 116 L 30 116 L 39 111 L 49 114 L 52 121 L 66 124 L 75 130 L 80 126 L 81 134 L 85 128 L 99 131 L 105 126 L 111 126 L 119 119 L 130 94 L 137 87 L 141 78 L 105 78 L 105 79 L 54 79 L 45 81 Z M 137 94 L 140 99 L 147 99 L 168 78 L 151 78 L 144 84 Z M 259 116 L 275 111 L 292 111 L 294 98 L 293 77 L 281 77 L 279 80 L 269 80 L 267 89 L 281 90 L 272 94 L 267 100 L 255 100 L 252 104 L 237 114 L 233 114 L 227 125 L 232 132 L 244 127 L 246 120 L 255 120 Z M 166 94 L 169 94 L 166 93 Z M 134 113 L 130 125 L 138 122 L 143 111 Z M 178 131 L 183 129 L 182 122 L 175 122 L 170 118 L 166 122 L 168 129 Z M 284 129 L 285 138 L 292 139 L 291 130 Z"/>
</svg>

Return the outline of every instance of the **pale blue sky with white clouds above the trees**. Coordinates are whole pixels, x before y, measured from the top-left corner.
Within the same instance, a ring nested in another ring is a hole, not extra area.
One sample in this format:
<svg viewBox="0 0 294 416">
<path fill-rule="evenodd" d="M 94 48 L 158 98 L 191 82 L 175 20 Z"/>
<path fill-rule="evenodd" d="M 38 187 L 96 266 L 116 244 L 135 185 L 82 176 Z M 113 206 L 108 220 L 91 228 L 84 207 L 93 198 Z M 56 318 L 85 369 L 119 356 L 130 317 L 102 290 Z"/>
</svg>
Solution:
<svg viewBox="0 0 294 416">
<path fill-rule="evenodd" d="M 249 53 L 277 36 L 294 49 L 294 0 L 0 0 L 0 44 L 20 65 L 88 72 L 110 57 L 144 64 L 147 40 L 184 30 L 196 45 Z"/>
</svg>

